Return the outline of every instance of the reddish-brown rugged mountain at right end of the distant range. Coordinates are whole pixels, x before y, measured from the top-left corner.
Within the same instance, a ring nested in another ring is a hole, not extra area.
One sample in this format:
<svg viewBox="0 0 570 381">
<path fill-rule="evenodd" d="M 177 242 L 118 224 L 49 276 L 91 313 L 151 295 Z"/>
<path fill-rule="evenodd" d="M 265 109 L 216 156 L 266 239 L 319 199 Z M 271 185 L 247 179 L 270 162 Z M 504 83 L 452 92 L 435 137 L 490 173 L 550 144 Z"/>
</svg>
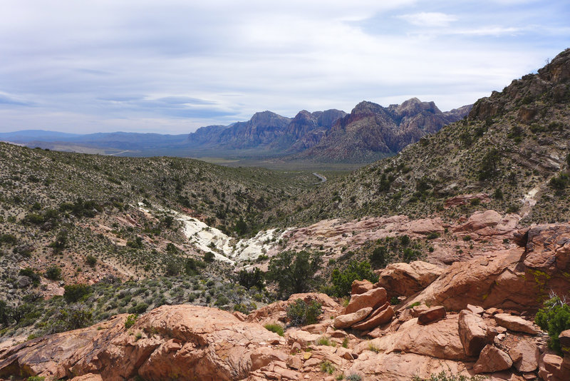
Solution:
<svg viewBox="0 0 570 381">
<path fill-rule="evenodd" d="M 361 102 L 341 118 L 326 137 L 301 153 L 321 161 L 367 162 L 398 153 L 402 148 L 435 133 L 467 115 L 469 106 L 442 113 L 433 102 L 411 98 L 401 105 L 384 108 Z"/>
</svg>

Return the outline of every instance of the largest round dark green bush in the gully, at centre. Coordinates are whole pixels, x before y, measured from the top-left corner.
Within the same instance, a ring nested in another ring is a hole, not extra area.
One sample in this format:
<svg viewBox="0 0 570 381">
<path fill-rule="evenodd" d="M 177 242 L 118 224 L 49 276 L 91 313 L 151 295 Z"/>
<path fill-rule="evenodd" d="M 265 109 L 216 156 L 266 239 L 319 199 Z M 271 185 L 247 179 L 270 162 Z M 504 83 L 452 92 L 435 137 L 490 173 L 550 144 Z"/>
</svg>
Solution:
<svg viewBox="0 0 570 381">
<path fill-rule="evenodd" d="M 267 279 L 277 283 L 281 297 L 306 293 L 315 288 L 318 282 L 315 274 L 322 262 L 320 253 L 286 251 L 271 258 Z"/>
</svg>

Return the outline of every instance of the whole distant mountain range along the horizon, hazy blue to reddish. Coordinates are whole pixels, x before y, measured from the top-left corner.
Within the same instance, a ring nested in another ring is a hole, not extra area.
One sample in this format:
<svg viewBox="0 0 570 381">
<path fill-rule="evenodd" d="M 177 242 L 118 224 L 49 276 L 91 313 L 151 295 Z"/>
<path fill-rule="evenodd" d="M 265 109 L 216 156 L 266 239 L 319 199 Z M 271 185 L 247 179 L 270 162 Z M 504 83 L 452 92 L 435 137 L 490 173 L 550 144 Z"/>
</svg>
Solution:
<svg viewBox="0 0 570 381">
<path fill-rule="evenodd" d="M 0 133 L 0 140 L 58 151 L 123 156 L 267 157 L 286 161 L 368 163 L 390 156 L 427 133 L 463 118 L 471 106 L 442 113 L 435 103 L 412 98 L 388 108 L 359 103 L 350 114 L 303 110 L 294 118 L 271 111 L 229 126 L 205 126 L 190 134 L 51 131 Z"/>
</svg>

